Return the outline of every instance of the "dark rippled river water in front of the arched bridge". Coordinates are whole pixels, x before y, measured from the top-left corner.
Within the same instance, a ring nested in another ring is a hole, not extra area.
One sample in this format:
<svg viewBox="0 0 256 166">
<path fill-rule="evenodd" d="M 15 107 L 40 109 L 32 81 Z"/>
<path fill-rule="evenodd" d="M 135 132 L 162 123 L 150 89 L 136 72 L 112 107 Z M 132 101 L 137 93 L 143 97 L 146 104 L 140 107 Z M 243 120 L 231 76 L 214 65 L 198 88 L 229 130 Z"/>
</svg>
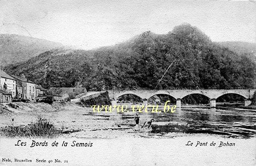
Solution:
<svg viewBox="0 0 256 166">
<path fill-rule="evenodd" d="M 141 113 L 140 123 L 154 119 L 151 133 L 214 133 L 236 138 L 256 136 L 256 111 L 182 108 L 175 113 Z M 122 113 L 122 125 L 134 126 L 133 112 Z"/>
</svg>

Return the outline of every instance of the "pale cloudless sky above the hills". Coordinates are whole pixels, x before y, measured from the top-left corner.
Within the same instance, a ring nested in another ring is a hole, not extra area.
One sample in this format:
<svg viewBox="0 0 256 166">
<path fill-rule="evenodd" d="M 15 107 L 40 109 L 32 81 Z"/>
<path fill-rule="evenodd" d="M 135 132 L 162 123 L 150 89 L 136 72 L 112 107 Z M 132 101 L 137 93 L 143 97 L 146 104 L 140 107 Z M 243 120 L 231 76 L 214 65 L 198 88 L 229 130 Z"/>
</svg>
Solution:
<svg viewBox="0 0 256 166">
<path fill-rule="evenodd" d="M 212 41 L 256 43 L 256 1 L 0 0 L 0 33 L 92 49 L 190 23 Z"/>
</svg>

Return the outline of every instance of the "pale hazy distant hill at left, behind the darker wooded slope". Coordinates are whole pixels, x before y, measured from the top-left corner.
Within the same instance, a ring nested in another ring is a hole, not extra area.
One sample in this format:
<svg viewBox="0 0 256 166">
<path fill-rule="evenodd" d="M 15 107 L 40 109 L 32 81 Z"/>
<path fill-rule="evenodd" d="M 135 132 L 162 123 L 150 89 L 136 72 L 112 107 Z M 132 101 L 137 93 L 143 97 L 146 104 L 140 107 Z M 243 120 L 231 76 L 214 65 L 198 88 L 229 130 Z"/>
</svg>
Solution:
<svg viewBox="0 0 256 166">
<path fill-rule="evenodd" d="M 0 66 L 22 62 L 63 45 L 44 39 L 17 34 L 0 34 Z"/>
</svg>

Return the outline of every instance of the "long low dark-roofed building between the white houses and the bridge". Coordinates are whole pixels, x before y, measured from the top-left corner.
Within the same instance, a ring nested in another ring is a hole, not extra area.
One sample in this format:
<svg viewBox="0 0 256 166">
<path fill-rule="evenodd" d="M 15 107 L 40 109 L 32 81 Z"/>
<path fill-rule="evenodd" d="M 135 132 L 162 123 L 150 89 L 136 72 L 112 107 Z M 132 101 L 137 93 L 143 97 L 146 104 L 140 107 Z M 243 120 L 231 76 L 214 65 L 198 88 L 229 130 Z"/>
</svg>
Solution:
<svg viewBox="0 0 256 166">
<path fill-rule="evenodd" d="M 48 93 L 53 96 L 55 101 L 63 101 L 73 99 L 76 95 L 81 93 L 87 93 L 86 88 L 75 87 L 75 88 L 50 88 Z"/>
</svg>

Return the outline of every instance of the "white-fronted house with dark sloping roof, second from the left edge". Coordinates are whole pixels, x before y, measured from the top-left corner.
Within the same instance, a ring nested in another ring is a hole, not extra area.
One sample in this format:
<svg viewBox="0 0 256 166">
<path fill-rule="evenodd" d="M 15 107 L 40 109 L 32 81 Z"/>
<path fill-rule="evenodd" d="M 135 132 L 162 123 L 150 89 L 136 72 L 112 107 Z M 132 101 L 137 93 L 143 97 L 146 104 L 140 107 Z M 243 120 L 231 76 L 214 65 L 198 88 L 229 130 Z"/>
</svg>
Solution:
<svg viewBox="0 0 256 166">
<path fill-rule="evenodd" d="M 19 77 L 14 75 L 12 75 L 12 77 L 14 77 L 15 80 L 17 81 L 18 86 L 16 88 L 16 91 L 18 95 L 20 95 L 20 96 L 17 95 L 17 97 L 18 98 L 21 97 L 21 99 L 35 102 L 36 101 L 36 84 L 25 77 Z"/>
</svg>

